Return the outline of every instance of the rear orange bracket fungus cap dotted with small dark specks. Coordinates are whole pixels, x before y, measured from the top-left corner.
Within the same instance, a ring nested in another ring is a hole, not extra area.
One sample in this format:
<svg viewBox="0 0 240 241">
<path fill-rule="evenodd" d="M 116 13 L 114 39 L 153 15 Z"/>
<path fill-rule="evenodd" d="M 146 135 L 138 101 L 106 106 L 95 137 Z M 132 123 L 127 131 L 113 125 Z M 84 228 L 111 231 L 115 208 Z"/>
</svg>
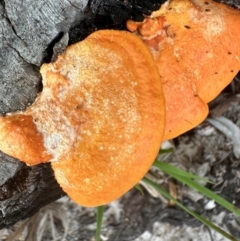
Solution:
<svg viewBox="0 0 240 241">
<path fill-rule="evenodd" d="M 240 70 L 240 11 L 211 0 L 170 0 L 127 28 L 154 56 L 166 100 L 164 139 L 201 123 L 207 103 Z"/>
</svg>

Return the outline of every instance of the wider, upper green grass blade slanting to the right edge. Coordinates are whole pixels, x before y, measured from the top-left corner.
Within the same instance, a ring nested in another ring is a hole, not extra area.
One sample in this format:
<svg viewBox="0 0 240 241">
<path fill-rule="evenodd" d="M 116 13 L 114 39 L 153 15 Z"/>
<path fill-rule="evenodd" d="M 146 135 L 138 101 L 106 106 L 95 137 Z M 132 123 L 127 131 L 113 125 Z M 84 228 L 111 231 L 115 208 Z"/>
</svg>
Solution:
<svg viewBox="0 0 240 241">
<path fill-rule="evenodd" d="M 154 163 L 154 166 L 160 168 L 162 171 L 164 171 L 166 174 L 172 176 L 176 180 L 178 180 L 178 181 L 186 184 L 187 186 L 197 190 L 198 192 L 202 193 L 204 196 L 214 200 L 216 203 L 218 203 L 222 207 L 226 208 L 230 212 L 235 213 L 235 214 L 240 216 L 240 209 L 238 207 L 234 206 L 232 203 L 228 202 L 227 200 L 225 200 L 221 196 L 217 195 L 216 193 L 212 192 L 208 188 L 206 188 L 206 187 L 200 185 L 199 183 L 195 182 L 194 180 L 192 180 L 190 178 L 191 175 L 184 176 L 183 175 L 184 171 L 182 171 L 182 170 L 180 170 L 176 167 L 172 168 L 172 166 L 169 165 L 169 164 L 167 164 L 167 165 L 165 165 L 165 164 L 166 163 L 156 161 Z M 169 166 L 171 168 L 169 168 Z M 176 172 L 176 169 L 179 170 L 179 171 Z"/>
</svg>

